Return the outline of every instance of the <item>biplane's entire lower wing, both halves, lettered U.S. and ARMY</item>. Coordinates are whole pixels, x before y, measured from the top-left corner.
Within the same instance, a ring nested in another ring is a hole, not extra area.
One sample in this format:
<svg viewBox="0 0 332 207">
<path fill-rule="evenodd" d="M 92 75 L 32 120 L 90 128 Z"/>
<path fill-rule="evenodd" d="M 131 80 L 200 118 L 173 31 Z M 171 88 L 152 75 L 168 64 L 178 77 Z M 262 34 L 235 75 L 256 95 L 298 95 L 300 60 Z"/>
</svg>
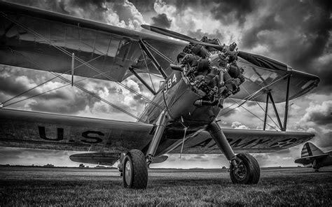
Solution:
<svg viewBox="0 0 332 207">
<path fill-rule="evenodd" d="M 153 124 L 121 122 L 23 110 L 0 110 L 0 146 L 120 153 L 144 151 Z M 172 129 L 169 129 L 172 130 Z M 314 134 L 290 131 L 223 129 L 235 152 L 275 152 L 308 141 Z M 171 134 L 181 134 L 173 131 Z M 156 155 L 180 153 L 182 138 L 165 137 Z M 184 154 L 220 154 L 207 131 L 186 136 Z"/>
</svg>

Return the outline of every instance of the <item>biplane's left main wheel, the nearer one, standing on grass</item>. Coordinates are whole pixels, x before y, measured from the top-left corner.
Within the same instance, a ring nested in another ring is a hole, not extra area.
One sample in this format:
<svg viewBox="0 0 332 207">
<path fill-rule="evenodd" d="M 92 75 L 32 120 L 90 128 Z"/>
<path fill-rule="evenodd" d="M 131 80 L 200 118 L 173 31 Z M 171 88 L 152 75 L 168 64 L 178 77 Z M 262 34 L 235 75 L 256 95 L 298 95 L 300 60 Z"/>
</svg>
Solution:
<svg viewBox="0 0 332 207">
<path fill-rule="evenodd" d="M 140 150 L 130 150 L 123 161 L 123 186 L 145 189 L 148 185 L 148 166 Z"/>
</svg>

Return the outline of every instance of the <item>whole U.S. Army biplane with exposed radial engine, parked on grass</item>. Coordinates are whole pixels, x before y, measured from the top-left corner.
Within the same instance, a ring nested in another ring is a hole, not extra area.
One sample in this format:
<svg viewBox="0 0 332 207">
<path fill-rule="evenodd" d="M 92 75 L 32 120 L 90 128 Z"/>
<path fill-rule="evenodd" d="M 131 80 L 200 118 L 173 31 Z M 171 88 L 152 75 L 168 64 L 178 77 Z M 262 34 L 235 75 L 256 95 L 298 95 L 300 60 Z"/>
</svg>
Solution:
<svg viewBox="0 0 332 207">
<path fill-rule="evenodd" d="M 282 62 L 158 27 L 142 25 L 150 30 L 144 33 L 14 3 L 0 2 L 0 18 L 0 64 L 48 71 L 94 97 L 74 76 L 113 81 L 148 102 L 139 117 L 132 115 L 137 122 L 13 110 L 3 102 L 1 146 L 85 151 L 71 160 L 118 162 L 124 187 L 144 189 L 150 164 L 182 153 L 222 153 L 230 162 L 233 183 L 255 184 L 260 169 L 249 153 L 276 152 L 314 137 L 286 131 L 286 123 L 289 100 L 317 87 L 319 78 Z M 224 78 L 230 69 L 240 71 L 240 82 Z M 162 78 L 160 89 L 142 74 Z M 123 85 L 131 76 L 151 91 L 152 99 Z M 265 103 L 263 130 L 221 129 L 219 119 L 226 119 L 223 114 L 230 109 L 223 107 L 224 99 L 240 100 L 235 101 L 239 106 Z M 127 112 L 111 100 L 100 100 Z M 275 106 L 282 102 L 283 122 Z M 276 131 L 266 130 L 269 105 Z"/>
</svg>

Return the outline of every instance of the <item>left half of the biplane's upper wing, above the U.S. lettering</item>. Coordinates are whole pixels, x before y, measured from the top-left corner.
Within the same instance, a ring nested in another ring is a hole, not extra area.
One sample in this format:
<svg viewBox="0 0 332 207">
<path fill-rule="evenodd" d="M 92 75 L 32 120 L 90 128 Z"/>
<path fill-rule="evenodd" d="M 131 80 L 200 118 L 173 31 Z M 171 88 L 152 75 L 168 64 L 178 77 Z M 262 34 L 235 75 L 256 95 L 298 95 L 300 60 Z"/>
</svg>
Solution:
<svg viewBox="0 0 332 207">
<path fill-rule="evenodd" d="M 0 35 L 0 64 L 70 74 L 74 53 L 76 76 L 116 81 L 130 75 L 129 66 L 146 71 L 144 62 L 135 62 L 143 59 L 140 39 L 170 59 L 184 48 L 179 41 L 7 2 L 0 2 Z M 148 66 L 158 73 L 149 60 Z"/>
</svg>

